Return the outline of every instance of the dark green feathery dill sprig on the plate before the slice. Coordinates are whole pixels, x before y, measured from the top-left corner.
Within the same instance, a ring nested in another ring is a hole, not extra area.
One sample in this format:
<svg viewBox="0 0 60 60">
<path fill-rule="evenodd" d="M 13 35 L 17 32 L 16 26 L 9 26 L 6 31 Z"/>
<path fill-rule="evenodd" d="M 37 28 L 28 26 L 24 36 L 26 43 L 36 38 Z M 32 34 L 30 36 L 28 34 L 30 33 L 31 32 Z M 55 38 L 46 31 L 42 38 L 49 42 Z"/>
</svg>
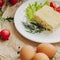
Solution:
<svg viewBox="0 0 60 60">
<path fill-rule="evenodd" d="M 43 28 L 41 25 L 39 25 L 36 22 L 35 23 L 23 22 L 23 25 L 27 29 L 26 31 L 30 33 L 40 33 L 45 30 L 45 28 Z"/>
</svg>

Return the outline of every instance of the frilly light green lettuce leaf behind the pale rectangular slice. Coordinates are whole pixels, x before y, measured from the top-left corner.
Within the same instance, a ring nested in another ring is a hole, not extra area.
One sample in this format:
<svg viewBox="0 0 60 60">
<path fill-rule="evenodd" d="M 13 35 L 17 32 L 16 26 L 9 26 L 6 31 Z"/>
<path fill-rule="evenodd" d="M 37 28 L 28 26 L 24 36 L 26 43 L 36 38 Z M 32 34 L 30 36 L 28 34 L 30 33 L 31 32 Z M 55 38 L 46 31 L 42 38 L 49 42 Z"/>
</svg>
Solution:
<svg viewBox="0 0 60 60">
<path fill-rule="evenodd" d="M 44 5 L 49 5 L 49 1 L 46 1 L 44 4 L 38 2 L 29 4 L 29 6 L 26 8 L 26 17 L 28 18 L 29 22 L 35 22 L 34 13 L 41 9 Z"/>
</svg>

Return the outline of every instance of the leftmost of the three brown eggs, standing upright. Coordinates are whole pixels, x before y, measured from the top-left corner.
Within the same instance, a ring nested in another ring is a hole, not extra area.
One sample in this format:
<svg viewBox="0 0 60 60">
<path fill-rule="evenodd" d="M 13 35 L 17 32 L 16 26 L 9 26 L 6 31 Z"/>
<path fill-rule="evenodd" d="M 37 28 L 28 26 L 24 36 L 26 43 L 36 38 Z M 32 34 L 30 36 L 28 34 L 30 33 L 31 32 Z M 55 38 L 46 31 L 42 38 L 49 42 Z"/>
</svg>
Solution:
<svg viewBox="0 0 60 60">
<path fill-rule="evenodd" d="M 35 55 L 35 49 L 32 46 L 24 46 L 20 51 L 21 60 L 31 60 Z"/>
</svg>

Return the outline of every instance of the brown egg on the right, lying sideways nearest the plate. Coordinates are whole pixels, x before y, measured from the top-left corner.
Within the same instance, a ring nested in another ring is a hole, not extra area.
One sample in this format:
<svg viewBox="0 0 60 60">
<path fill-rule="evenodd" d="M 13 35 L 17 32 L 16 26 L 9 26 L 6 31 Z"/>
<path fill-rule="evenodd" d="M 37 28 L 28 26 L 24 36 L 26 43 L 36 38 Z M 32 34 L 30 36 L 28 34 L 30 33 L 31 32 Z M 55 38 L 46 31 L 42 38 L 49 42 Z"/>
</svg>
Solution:
<svg viewBox="0 0 60 60">
<path fill-rule="evenodd" d="M 56 48 L 52 44 L 39 44 L 37 46 L 37 52 L 45 53 L 49 58 L 52 58 L 56 54 Z"/>
</svg>

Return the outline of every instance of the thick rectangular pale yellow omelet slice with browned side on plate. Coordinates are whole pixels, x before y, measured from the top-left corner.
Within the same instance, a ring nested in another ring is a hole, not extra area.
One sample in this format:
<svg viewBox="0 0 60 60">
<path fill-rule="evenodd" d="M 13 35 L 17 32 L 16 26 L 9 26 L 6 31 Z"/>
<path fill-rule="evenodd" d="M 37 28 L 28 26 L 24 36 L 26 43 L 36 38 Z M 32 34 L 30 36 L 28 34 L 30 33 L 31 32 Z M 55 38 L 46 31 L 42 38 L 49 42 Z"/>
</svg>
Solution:
<svg viewBox="0 0 60 60">
<path fill-rule="evenodd" d="M 35 20 L 44 28 L 54 31 L 60 26 L 60 13 L 45 5 L 34 14 Z"/>
</svg>

